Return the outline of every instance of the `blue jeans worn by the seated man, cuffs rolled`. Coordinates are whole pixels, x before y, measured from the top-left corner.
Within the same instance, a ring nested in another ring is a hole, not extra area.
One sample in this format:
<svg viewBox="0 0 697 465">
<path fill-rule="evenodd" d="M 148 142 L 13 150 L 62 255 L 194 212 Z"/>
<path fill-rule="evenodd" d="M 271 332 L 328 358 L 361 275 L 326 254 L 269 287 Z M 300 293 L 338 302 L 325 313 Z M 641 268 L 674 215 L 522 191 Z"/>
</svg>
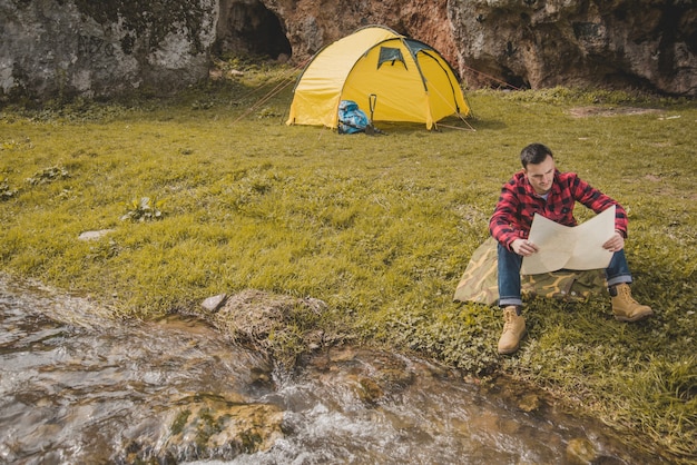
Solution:
<svg viewBox="0 0 697 465">
<path fill-rule="evenodd" d="M 498 248 L 499 256 L 499 305 L 505 307 L 508 305 L 522 305 L 520 295 L 520 267 L 522 265 L 522 256 L 510 251 L 501 244 Z M 609 286 L 620 283 L 631 283 L 631 273 L 625 257 L 625 249 L 612 254 L 610 265 L 605 269 L 605 277 Z"/>
</svg>

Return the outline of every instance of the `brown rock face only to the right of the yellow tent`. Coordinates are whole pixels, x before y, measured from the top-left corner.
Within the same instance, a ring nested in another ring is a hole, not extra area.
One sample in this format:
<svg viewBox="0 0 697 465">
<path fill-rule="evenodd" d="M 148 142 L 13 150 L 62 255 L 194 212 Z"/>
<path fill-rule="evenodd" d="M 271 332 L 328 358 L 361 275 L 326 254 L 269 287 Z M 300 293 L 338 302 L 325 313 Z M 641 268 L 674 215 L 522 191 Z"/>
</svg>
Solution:
<svg viewBox="0 0 697 465">
<path fill-rule="evenodd" d="M 531 88 L 697 95 L 693 0 L 454 0 L 449 11 L 461 68 Z M 474 83 L 487 81 L 469 75 Z"/>
</svg>

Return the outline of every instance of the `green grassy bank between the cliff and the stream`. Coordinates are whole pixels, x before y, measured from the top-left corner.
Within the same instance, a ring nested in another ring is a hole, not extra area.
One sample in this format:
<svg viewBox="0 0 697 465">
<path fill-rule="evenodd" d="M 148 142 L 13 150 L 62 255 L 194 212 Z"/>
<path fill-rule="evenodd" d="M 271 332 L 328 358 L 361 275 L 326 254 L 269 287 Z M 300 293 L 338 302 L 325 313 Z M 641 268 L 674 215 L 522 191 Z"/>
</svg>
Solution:
<svg viewBox="0 0 697 465">
<path fill-rule="evenodd" d="M 171 99 L 7 105 L 1 269 L 138 318 L 245 288 L 320 298 L 325 314 L 300 325 L 513 376 L 631 432 L 638 448 L 696 458 L 693 101 L 477 91 L 477 131 L 379 122 L 387 136 L 340 136 L 285 126 L 292 86 L 264 96 L 293 71 L 246 66 Z M 627 325 L 606 296 L 536 299 L 520 352 L 502 358 L 498 310 L 452 295 L 533 141 L 627 208 L 634 293 L 656 315 Z M 112 231 L 78 240 L 101 229 Z"/>
</svg>

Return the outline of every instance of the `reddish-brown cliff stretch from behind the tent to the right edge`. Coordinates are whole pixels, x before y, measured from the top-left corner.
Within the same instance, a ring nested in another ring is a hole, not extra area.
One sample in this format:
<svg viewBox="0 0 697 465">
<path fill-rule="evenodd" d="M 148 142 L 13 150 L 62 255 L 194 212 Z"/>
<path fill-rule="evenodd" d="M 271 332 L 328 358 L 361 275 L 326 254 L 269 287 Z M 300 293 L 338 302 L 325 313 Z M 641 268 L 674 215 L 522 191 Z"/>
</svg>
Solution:
<svg viewBox="0 0 697 465">
<path fill-rule="evenodd" d="M 295 60 L 379 23 L 438 49 L 468 87 L 602 86 L 697 96 L 694 0 L 264 0 Z"/>
</svg>

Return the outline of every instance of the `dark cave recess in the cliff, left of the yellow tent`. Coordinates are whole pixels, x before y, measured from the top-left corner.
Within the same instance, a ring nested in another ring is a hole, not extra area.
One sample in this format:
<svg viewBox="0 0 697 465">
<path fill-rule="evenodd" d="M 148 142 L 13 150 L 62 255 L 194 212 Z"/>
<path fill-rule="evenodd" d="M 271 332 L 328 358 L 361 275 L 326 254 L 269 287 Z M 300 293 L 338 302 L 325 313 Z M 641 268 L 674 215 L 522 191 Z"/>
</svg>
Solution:
<svg viewBox="0 0 697 465">
<path fill-rule="evenodd" d="M 214 53 L 252 55 L 275 60 L 292 56 L 285 27 L 261 1 L 220 0 Z"/>
</svg>

